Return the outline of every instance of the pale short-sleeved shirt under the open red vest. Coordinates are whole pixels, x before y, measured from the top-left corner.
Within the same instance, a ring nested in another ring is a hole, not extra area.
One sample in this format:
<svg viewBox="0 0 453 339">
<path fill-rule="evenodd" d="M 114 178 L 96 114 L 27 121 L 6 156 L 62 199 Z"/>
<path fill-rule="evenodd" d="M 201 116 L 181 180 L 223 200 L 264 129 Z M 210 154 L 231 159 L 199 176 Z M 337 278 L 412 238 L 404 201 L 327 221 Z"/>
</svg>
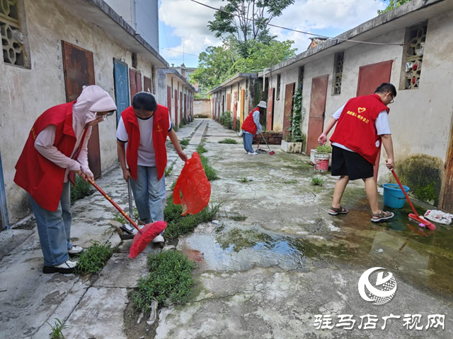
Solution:
<svg viewBox="0 0 453 339">
<path fill-rule="evenodd" d="M 140 144 L 139 144 L 139 154 L 137 165 L 155 167 L 156 166 L 156 153 L 154 152 L 154 143 L 153 143 L 153 121 L 154 116 L 149 119 L 141 119 L 137 117 L 140 130 Z M 170 114 L 168 114 L 168 121 L 170 124 L 170 129 L 168 132 L 173 129 L 173 124 L 171 123 Z M 122 117 L 118 123 L 118 128 L 116 131 L 116 138 L 123 143 L 126 143 L 129 140 L 129 135 L 126 131 L 126 126 Z"/>
</svg>

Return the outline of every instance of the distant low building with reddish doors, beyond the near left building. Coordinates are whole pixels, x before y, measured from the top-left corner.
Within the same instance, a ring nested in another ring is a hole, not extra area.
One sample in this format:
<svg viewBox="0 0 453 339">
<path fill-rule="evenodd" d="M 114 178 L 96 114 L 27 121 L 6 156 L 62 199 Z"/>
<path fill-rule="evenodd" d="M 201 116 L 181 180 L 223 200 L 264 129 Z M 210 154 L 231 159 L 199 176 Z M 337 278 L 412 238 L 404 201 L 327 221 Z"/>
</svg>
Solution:
<svg viewBox="0 0 453 339">
<path fill-rule="evenodd" d="M 176 69 L 158 70 L 158 97 L 168 107 L 176 129 L 182 121 L 193 121 L 195 88 Z"/>
</svg>

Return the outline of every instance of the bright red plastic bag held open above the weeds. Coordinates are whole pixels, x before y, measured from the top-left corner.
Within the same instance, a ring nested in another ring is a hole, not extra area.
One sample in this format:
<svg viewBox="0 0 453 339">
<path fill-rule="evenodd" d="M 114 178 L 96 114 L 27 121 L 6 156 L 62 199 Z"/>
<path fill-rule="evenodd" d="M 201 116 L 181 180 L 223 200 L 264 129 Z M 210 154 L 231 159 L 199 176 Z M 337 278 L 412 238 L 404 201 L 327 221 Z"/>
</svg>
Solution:
<svg viewBox="0 0 453 339">
<path fill-rule="evenodd" d="M 181 198 L 182 194 L 182 198 Z M 197 214 L 210 203 L 211 184 L 206 177 L 200 155 L 194 152 L 185 162 L 173 189 L 173 203 L 183 206 L 183 214 Z"/>
</svg>

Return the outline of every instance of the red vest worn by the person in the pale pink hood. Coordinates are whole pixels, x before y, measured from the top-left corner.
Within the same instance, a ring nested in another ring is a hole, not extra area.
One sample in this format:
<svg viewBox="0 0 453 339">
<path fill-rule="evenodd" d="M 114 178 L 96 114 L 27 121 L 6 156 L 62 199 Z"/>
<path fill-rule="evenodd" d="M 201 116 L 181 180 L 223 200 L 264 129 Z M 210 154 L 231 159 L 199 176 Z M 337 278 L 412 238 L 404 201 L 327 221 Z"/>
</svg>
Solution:
<svg viewBox="0 0 453 339">
<path fill-rule="evenodd" d="M 39 206 L 46 210 L 55 211 L 58 208 L 66 169 L 43 157 L 35 149 L 35 139 L 47 126 L 55 125 L 57 129 L 54 145 L 61 153 L 71 157 L 76 145 L 76 135 L 72 128 L 72 106 L 74 102 L 47 109 L 36 119 L 21 157 L 16 164 L 14 182 L 28 191 Z M 84 133 L 86 133 L 86 130 Z M 85 138 L 85 134 L 83 138 Z M 80 145 L 83 142 L 82 140 Z"/>
</svg>

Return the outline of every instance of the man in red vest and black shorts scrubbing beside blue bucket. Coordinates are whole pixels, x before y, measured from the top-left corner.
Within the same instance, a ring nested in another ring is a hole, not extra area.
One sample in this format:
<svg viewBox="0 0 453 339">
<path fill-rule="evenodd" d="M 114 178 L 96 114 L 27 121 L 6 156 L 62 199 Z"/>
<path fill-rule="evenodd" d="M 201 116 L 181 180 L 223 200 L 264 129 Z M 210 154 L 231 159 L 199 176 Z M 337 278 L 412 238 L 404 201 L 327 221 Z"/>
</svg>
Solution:
<svg viewBox="0 0 453 339">
<path fill-rule="evenodd" d="M 348 213 L 340 205 L 341 197 L 350 180 L 362 179 L 372 210 L 372 222 L 382 222 L 394 217 L 394 213 L 379 209 L 379 195 L 374 180 L 374 164 L 381 143 L 387 153 L 388 169 L 394 169 L 394 146 L 389 126 L 389 107 L 394 102 L 396 88 L 391 83 L 382 83 L 372 95 L 354 97 L 340 107 L 328 121 L 318 142 L 324 145 L 327 134 L 338 121 L 331 136 L 332 175 L 340 176 L 333 193 L 330 215 Z"/>
</svg>

